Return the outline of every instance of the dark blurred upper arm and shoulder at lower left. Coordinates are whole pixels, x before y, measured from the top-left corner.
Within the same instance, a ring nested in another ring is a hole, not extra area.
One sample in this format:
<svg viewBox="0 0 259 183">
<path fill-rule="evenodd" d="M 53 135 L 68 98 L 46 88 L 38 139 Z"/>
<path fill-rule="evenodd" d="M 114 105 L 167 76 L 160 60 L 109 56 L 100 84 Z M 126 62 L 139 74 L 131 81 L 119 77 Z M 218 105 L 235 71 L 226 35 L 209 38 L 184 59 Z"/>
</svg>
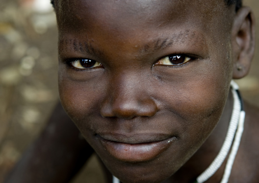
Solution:
<svg viewBox="0 0 259 183">
<path fill-rule="evenodd" d="M 59 103 L 5 182 L 68 182 L 92 153 Z"/>
</svg>

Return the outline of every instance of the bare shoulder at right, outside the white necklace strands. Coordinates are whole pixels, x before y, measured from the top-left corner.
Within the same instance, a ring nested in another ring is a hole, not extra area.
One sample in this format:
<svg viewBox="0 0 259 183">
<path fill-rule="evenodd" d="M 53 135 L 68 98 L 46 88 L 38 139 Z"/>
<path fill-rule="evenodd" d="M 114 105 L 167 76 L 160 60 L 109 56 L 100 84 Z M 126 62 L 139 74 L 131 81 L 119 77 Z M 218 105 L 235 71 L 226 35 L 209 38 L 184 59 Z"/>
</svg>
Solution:
<svg viewBox="0 0 259 183">
<path fill-rule="evenodd" d="M 245 112 L 244 132 L 231 174 L 233 182 L 258 182 L 259 108 L 245 102 Z"/>
</svg>

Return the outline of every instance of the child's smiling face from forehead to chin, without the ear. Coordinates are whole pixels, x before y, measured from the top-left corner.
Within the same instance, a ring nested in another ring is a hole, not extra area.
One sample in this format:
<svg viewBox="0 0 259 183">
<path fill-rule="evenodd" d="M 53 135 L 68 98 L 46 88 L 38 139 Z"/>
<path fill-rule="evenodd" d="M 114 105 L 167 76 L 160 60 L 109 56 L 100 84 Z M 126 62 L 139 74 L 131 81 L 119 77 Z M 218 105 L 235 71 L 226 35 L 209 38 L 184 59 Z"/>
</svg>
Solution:
<svg viewBox="0 0 259 183">
<path fill-rule="evenodd" d="M 62 2 L 65 110 L 123 182 L 168 178 L 222 114 L 232 77 L 226 22 L 234 8 L 223 0 Z"/>
</svg>

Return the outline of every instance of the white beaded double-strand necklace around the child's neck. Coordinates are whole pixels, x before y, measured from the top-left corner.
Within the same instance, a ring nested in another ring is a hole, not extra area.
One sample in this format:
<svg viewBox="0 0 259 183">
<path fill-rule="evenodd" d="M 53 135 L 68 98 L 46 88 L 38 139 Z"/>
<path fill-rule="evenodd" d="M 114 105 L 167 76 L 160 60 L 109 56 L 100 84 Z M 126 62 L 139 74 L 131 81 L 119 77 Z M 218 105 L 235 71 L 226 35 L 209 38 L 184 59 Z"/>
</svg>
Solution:
<svg viewBox="0 0 259 183">
<path fill-rule="evenodd" d="M 211 165 L 197 177 L 197 179 L 195 180 L 195 182 L 197 183 L 202 183 L 208 180 L 212 175 L 214 175 L 214 173 L 219 169 L 219 167 L 221 167 L 222 163 L 226 159 L 226 156 L 232 144 L 223 178 L 221 179 L 220 183 L 228 182 L 232 165 L 234 163 L 240 145 L 245 121 L 245 111 L 243 109 L 242 99 L 238 91 L 239 87 L 234 81 L 231 81 L 230 85 L 234 97 L 234 105 L 225 141 L 220 149 L 220 152 L 211 163 Z M 117 177 L 113 176 L 113 183 L 120 183 L 120 180 Z"/>
</svg>

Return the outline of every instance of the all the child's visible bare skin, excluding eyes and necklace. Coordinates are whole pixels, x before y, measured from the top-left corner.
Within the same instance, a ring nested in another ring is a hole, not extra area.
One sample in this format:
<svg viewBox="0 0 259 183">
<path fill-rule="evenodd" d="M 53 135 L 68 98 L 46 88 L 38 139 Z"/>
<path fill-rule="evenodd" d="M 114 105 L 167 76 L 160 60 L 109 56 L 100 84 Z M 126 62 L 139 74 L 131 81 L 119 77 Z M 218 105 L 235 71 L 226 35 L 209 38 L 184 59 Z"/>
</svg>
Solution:
<svg viewBox="0 0 259 183">
<path fill-rule="evenodd" d="M 108 168 L 107 182 L 110 171 L 123 182 L 192 182 L 215 159 L 232 111 L 229 81 L 247 74 L 255 40 L 250 9 L 224 7 L 212 0 L 59 1 L 61 101 Z M 192 60 L 161 65 L 171 54 Z M 79 58 L 101 65 L 79 70 L 67 60 Z M 245 103 L 245 111 L 229 182 L 259 178 L 259 109 Z M 110 153 L 100 136 L 127 142 L 116 146 L 125 150 Z M 78 137 L 58 105 L 6 182 L 69 182 L 93 152 Z M 173 137 L 169 146 L 150 148 L 158 153 L 134 145 L 165 137 Z M 206 182 L 220 182 L 224 167 Z"/>
</svg>

